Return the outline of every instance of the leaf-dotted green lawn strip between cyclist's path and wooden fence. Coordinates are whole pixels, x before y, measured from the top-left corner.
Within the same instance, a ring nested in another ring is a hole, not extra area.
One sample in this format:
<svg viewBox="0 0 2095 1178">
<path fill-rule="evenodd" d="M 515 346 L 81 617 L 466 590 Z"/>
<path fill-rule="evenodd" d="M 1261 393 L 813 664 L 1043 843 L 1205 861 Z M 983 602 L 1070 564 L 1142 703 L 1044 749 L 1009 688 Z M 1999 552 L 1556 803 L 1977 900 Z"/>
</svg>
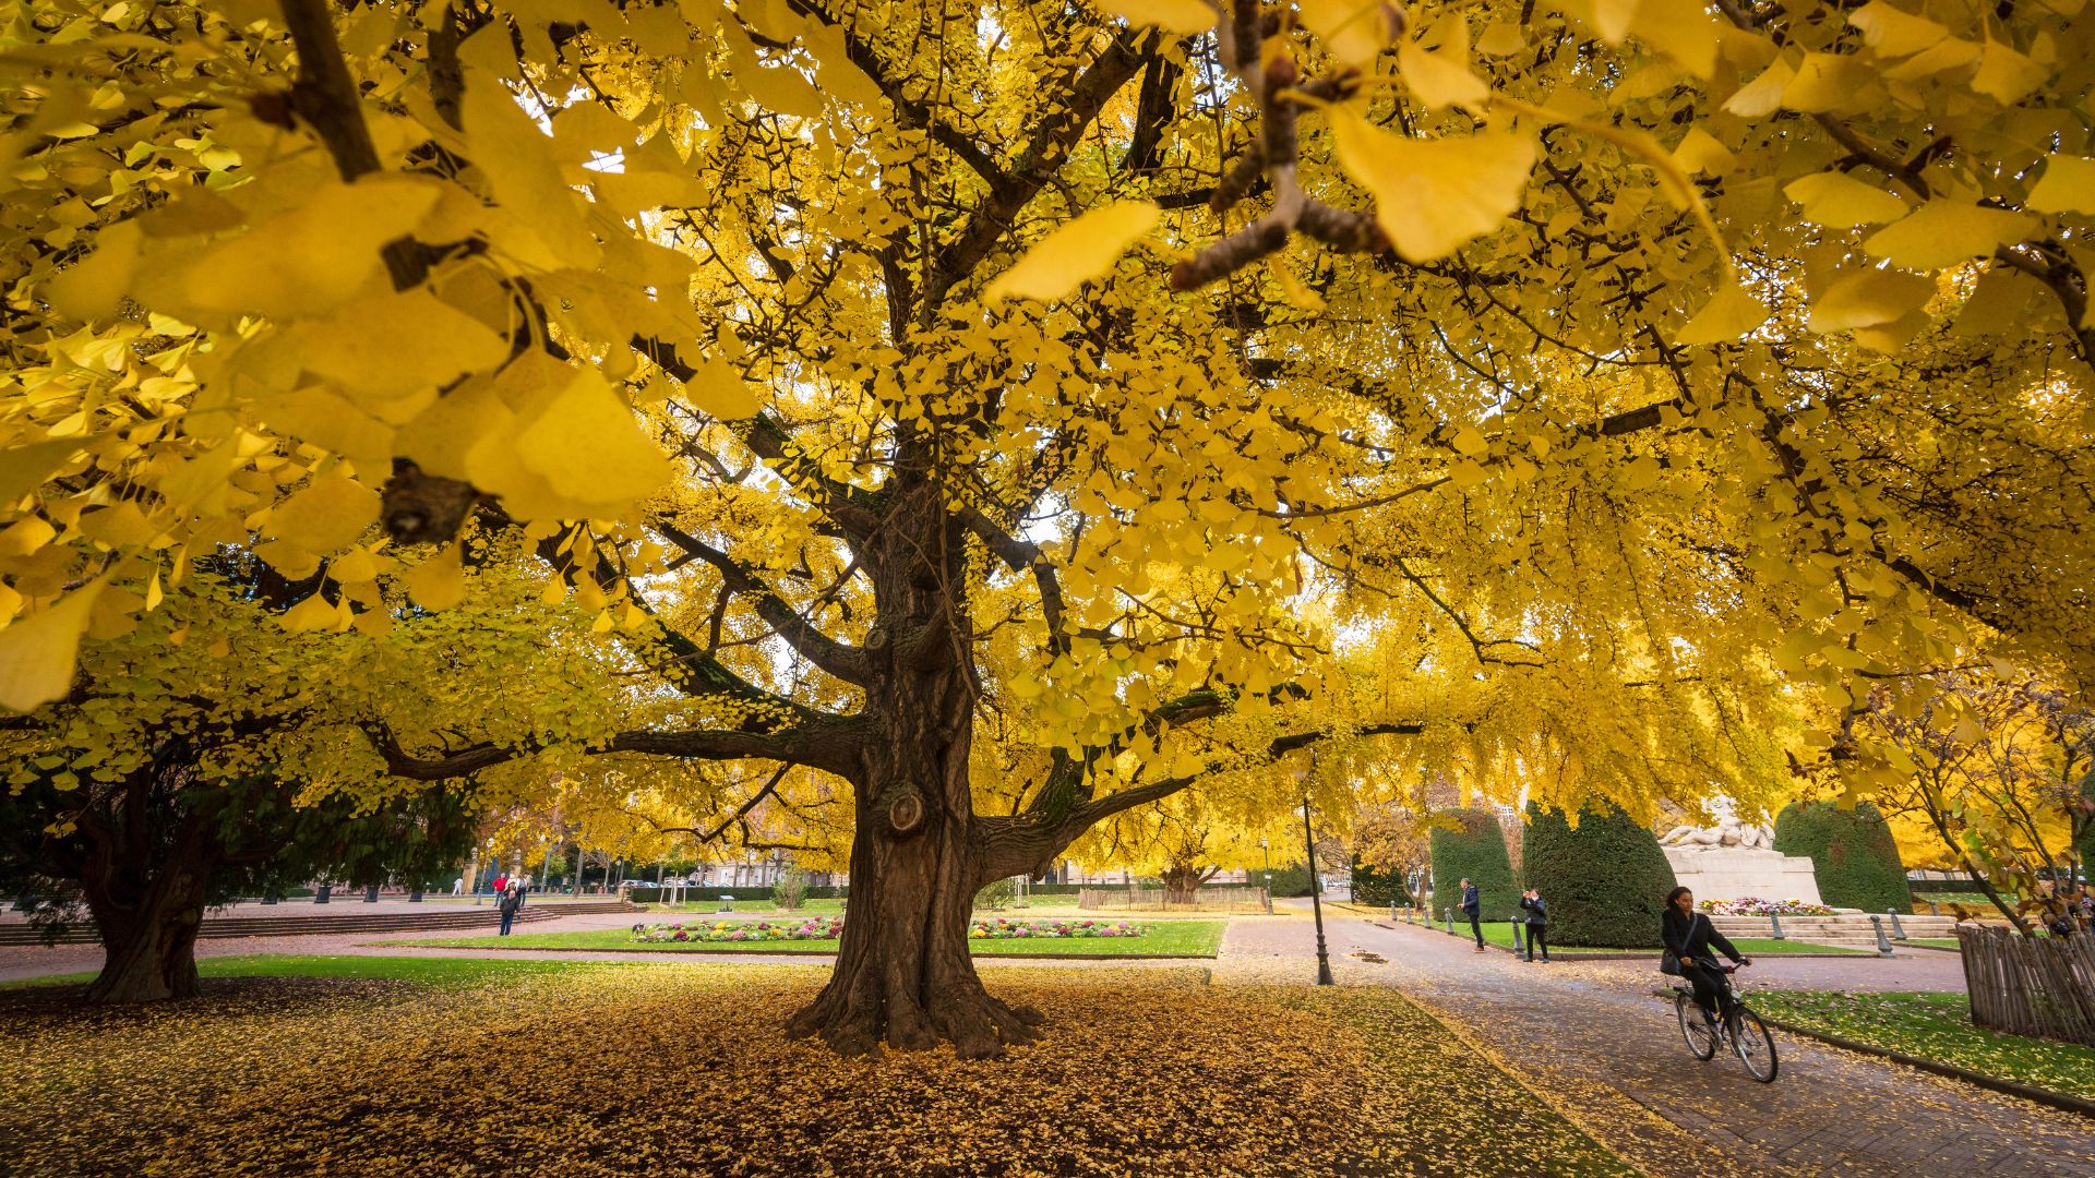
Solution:
<svg viewBox="0 0 2095 1178">
<path fill-rule="evenodd" d="M 1973 1027 L 1961 994 L 1762 989 L 1754 1008 L 1844 1040 L 2095 1098 L 2095 1048 Z"/>
</svg>

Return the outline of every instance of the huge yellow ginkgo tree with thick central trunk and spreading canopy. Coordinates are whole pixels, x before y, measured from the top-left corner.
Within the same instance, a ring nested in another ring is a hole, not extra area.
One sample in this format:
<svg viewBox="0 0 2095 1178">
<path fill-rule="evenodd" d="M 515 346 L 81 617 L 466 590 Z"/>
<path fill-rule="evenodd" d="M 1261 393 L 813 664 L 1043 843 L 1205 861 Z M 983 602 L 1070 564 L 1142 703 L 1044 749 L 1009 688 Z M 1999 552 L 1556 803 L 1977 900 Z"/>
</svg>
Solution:
<svg viewBox="0 0 2095 1178">
<path fill-rule="evenodd" d="M 846 1052 L 1031 1038 L 970 897 L 1184 788 L 1869 788 L 1867 677 L 2091 671 L 2091 21 L 34 0 L 0 702 L 218 545 L 375 633 L 517 535 L 626 721 L 373 780 L 848 801 Z"/>
</svg>

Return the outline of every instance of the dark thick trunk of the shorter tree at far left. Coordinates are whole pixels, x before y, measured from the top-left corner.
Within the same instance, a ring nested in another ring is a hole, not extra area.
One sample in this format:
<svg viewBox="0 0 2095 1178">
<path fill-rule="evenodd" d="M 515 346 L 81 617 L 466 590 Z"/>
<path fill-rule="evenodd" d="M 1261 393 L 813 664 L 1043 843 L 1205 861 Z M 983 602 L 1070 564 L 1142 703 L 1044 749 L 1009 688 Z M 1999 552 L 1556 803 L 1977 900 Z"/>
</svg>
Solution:
<svg viewBox="0 0 2095 1178">
<path fill-rule="evenodd" d="M 88 985 L 88 1002 L 166 1002 L 197 994 L 197 929 L 207 876 L 201 849 L 178 847 L 157 870 L 119 868 L 117 878 L 84 889 L 103 937 L 103 973 Z"/>
</svg>

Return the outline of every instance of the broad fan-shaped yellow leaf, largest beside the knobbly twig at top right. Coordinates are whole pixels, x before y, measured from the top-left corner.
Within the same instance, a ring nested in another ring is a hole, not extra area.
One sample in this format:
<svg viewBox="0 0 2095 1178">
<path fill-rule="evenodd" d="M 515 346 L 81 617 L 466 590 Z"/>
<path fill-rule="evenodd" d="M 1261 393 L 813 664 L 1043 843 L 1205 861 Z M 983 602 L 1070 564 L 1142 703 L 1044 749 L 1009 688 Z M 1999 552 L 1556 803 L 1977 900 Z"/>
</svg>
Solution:
<svg viewBox="0 0 2095 1178">
<path fill-rule="evenodd" d="M 1374 193 L 1383 233 L 1410 262 L 1454 254 L 1498 228 L 1521 208 L 1536 140 L 1506 130 L 1471 136 L 1406 138 L 1360 113 L 1330 111 L 1339 161 Z"/>
</svg>

